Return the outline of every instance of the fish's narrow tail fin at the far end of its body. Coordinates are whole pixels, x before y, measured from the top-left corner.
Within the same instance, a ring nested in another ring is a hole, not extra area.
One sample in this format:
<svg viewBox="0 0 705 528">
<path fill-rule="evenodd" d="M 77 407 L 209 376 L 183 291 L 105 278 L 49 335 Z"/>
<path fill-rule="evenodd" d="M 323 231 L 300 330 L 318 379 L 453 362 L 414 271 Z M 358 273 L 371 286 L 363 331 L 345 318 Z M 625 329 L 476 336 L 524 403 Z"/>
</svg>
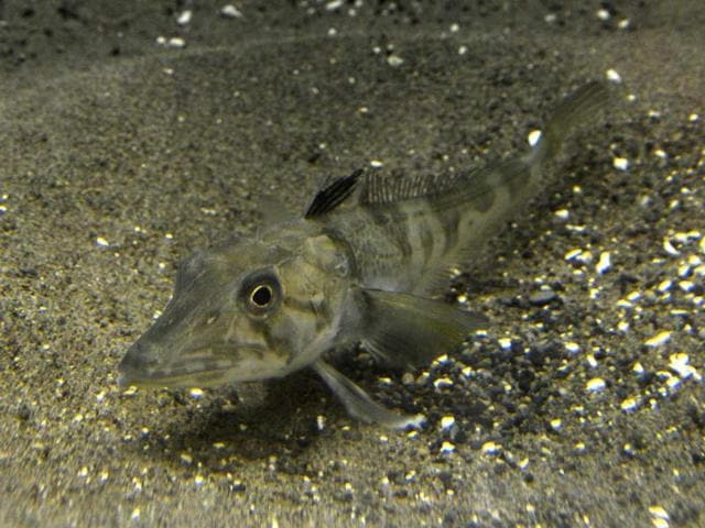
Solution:
<svg viewBox="0 0 705 528">
<path fill-rule="evenodd" d="M 530 165 L 541 165 L 553 158 L 561 151 L 568 133 L 595 120 L 609 99 L 609 90 L 600 81 L 588 82 L 566 97 L 542 131 L 541 140 L 529 157 Z"/>
</svg>

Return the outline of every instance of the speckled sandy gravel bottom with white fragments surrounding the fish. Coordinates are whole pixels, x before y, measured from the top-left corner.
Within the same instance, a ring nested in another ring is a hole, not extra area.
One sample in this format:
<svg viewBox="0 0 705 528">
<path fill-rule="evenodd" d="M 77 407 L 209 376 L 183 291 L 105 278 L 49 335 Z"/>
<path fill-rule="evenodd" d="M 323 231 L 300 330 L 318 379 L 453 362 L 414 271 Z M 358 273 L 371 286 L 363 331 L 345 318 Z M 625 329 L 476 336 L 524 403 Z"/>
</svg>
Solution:
<svg viewBox="0 0 705 528">
<path fill-rule="evenodd" d="M 78 3 L 61 55 L 52 12 L 0 11 L 0 524 L 705 524 L 703 15 L 632 3 Z M 251 231 L 260 196 L 506 156 L 600 77 L 614 108 L 448 279 L 491 331 L 425 371 L 340 364 L 426 428 L 355 422 L 305 372 L 117 387 L 178 260 Z"/>
</svg>

